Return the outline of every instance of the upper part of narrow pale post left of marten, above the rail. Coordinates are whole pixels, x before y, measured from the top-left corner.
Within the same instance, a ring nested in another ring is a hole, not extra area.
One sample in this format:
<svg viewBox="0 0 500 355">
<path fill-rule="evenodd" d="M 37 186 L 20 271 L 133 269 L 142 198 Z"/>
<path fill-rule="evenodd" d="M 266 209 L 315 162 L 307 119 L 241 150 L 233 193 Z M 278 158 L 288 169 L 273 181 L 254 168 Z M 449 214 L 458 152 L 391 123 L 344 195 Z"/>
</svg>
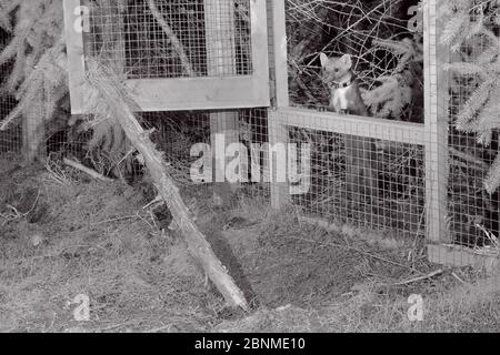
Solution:
<svg viewBox="0 0 500 355">
<path fill-rule="evenodd" d="M 290 105 L 288 88 L 288 48 L 284 0 L 273 0 L 272 6 L 272 55 L 274 73 L 274 106 Z"/>
</svg>

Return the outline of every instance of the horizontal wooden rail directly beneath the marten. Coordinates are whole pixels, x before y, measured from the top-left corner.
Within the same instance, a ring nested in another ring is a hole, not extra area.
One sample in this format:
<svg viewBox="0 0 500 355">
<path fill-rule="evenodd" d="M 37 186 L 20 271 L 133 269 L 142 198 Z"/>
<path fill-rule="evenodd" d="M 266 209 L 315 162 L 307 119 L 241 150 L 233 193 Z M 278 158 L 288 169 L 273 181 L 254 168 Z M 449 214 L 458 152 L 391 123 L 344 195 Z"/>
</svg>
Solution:
<svg viewBox="0 0 500 355">
<path fill-rule="evenodd" d="M 279 109 L 274 115 L 282 124 L 291 126 L 418 145 L 427 141 L 426 126 L 419 123 L 314 112 L 301 108 Z"/>
</svg>

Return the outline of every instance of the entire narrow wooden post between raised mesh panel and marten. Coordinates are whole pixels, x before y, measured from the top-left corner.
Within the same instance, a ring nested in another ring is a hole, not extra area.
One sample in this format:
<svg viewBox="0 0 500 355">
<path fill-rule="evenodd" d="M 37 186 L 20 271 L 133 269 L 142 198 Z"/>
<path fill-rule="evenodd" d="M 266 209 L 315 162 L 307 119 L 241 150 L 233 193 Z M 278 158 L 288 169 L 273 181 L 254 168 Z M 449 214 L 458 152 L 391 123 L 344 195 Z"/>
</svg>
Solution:
<svg viewBox="0 0 500 355">
<path fill-rule="evenodd" d="M 271 52 L 271 82 L 272 82 L 272 105 L 268 114 L 268 134 L 269 144 L 277 146 L 277 144 L 286 144 L 288 142 L 288 130 L 283 122 L 280 122 L 280 109 L 290 105 L 288 92 L 288 50 L 287 50 L 287 27 L 284 0 L 269 1 L 271 12 L 272 27 L 272 43 Z M 287 182 L 278 182 L 276 169 L 279 162 L 272 156 L 272 151 L 268 154 L 268 174 L 271 179 L 271 205 L 274 209 L 280 209 L 290 202 L 289 186 Z M 287 160 L 288 161 L 288 160 Z M 266 170 L 266 169 L 264 169 Z M 274 170 L 274 172 L 273 172 Z"/>
</svg>

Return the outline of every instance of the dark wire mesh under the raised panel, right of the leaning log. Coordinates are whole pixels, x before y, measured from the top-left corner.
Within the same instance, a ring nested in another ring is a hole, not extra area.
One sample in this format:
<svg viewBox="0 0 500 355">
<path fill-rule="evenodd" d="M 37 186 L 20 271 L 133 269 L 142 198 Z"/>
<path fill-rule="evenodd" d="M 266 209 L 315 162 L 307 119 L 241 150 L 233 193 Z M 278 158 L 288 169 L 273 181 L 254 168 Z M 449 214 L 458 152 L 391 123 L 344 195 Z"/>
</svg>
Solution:
<svg viewBox="0 0 500 355">
<path fill-rule="evenodd" d="M 236 166 L 236 183 L 246 195 L 268 195 L 269 181 L 264 180 L 268 164 L 267 109 L 238 110 L 238 138 L 227 148 L 228 161 Z M 142 114 L 143 126 L 154 129 L 151 138 L 164 152 L 174 180 L 183 186 L 210 190 L 217 181 L 213 170 L 216 144 L 211 131 L 212 112 L 148 112 Z M 142 175 L 137 166 L 136 178 Z M 227 168 L 230 171 L 231 168 Z M 227 173 L 229 175 L 229 173 Z M 226 176 L 229 178 L 229 176 Z"/>
</svg>

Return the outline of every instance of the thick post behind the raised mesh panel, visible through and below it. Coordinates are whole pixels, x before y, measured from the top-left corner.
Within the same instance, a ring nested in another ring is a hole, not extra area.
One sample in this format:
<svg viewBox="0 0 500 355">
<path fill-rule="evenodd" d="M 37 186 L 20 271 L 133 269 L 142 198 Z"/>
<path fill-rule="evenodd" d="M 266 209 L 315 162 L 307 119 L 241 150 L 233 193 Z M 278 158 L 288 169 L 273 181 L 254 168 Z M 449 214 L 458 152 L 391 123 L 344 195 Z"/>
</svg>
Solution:
<svg viewBox="0 0 500 355">
<path fill-rule="evenodd" d="M 236 75 L 234 2 L 204 0 L 204 26 L 207 37 L 207 71 L 209 77 Z M 210 113 L 210 140 L 214 152 L 213 200 L 222 206 L 230 202 L 238 184 L 226 183 L 226 146 L 239 142 L 238 112 Z M 218 146 L 216 138 L 223 138 Z M 222 155 L 222 156 L 221 156 Z"/>
</svg>

